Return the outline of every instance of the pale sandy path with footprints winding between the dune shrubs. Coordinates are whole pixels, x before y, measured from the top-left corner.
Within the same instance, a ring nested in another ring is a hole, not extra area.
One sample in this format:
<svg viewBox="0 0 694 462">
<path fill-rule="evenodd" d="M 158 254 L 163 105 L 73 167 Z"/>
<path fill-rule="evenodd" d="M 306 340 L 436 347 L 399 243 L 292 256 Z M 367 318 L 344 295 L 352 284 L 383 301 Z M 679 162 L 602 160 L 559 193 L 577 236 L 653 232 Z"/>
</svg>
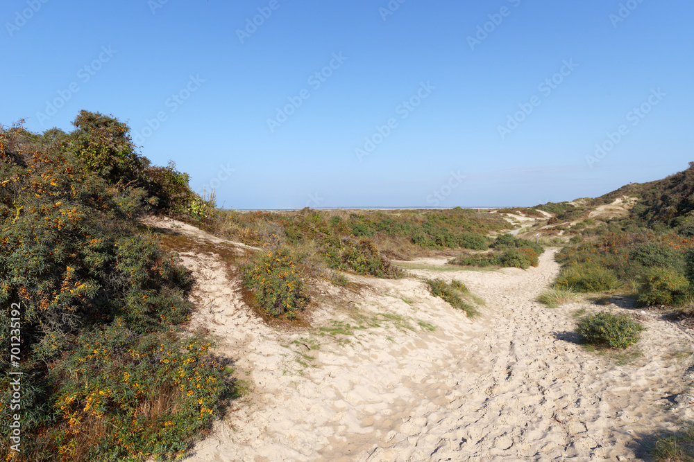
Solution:
<svg viewBox="0 0 694 462">
<path fill-rule="evenodd" d="M 204 307 L 194 322 L 221 337 L 219 351 L 237 359 L 237 375 L 252 389 L 188 460 L 643 456 L 640 438 L 692 417 L 691 407 L 669 407 L 691 382 L 690 359 L 679 355 L 678 362 L 675 353 L 691 350 L 693 341 L 647 315 L 643 356 L 632 364 L 584 351 L 570 333 L 570 313 L 582 306 L 552 310 L 534 301 L 559 270 L 553 254 L 527 271 L 411 271 L 466 283 L 486 300 L 474 321 L 430 296 L 416 278 L 353 278 L 369 289 L 339 293 L 343 307 L 319 304 L 314 328 L 289 332 L 253 316 L 217 256 L 182 254 Z M 364 328 L 321 332 L 334 320 Z"/>
</svg>

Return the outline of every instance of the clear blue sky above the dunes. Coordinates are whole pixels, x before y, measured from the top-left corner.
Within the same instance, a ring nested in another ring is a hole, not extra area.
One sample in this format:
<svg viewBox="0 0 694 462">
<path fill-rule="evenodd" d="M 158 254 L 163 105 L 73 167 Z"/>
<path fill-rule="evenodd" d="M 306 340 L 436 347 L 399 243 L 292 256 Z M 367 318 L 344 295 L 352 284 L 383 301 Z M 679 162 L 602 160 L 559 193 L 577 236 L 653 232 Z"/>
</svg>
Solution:
<svg viewBox="0 0 694 462">
<path fill-rule="evenodd" d="M 225 208 L 595 197 L 694 161 L 692 17 L 691 0 L 4 0 L 0 123 L 112 114 Z"/>
</svg>

